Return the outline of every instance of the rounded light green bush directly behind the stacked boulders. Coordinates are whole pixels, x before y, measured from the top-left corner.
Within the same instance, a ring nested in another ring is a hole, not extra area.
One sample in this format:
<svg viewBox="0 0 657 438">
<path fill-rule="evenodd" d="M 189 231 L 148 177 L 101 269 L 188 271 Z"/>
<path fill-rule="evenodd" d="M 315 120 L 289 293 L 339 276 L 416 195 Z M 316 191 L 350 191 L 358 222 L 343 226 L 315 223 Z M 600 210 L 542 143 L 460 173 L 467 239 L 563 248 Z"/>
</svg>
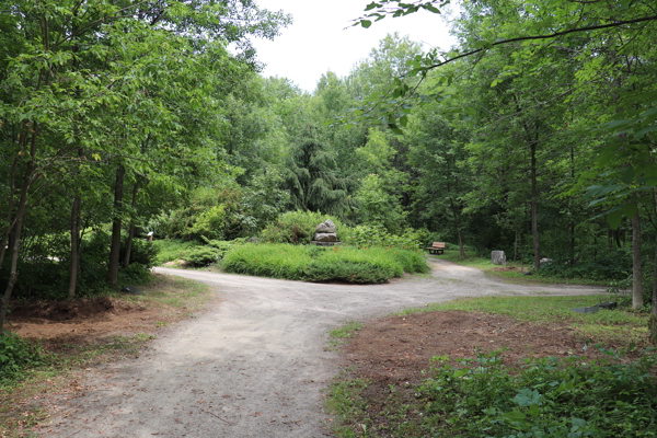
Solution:
<svg viewBox="0 0 657 438">
<path fill-rule="evenodd" d="M 288 211 L 267 224 L 261 238 L 270 243 L 308 244 L 314 238 L 315 228 L 326 219 L 333 220 L 337 227 L 337 240 L 347 242 L 350 230 L 339 219 L 313 211 Z"/>
</svg>

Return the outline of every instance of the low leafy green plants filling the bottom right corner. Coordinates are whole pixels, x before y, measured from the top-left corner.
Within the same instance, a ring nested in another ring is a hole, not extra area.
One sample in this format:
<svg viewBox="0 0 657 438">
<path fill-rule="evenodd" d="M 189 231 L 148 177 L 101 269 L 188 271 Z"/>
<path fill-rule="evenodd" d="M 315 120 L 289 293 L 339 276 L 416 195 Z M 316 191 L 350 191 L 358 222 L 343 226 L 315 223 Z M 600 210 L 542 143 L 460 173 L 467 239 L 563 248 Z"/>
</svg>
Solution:
<svg viewBox="0 0 657 438">
<path fill-rule="evenodd" d="M 418 385 L 390 385 L 382 410 L 364 396 L 368 381 L 333 384 L 326 407 L 339 437 L 579 438 L 657 434 L 656 357 L 528 359 L 507 366 L 496 354 L 449 364 L 436 357 Z"/>
</svg>

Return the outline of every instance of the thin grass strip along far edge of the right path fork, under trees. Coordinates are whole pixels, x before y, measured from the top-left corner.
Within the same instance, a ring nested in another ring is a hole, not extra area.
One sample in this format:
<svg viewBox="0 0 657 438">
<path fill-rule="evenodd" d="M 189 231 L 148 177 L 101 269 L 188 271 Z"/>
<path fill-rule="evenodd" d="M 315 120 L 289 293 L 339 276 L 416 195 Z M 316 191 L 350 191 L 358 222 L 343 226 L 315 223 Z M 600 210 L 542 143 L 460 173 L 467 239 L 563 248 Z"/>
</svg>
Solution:
<svg viewBox="0 0 657 438">
<path fill-rule="evenodd" d="M 431 255 L 431 257 L 446 260 L 448 262 L 458 263 L 463 266 L 471 266 L 484 272 L 492 277 L 500 278 L 509 283 L 532 284 L 532 285 L 589 285 L 589 286 L 608 286 L 609 280 L 593 280 L 590 278 L 562 278 L 546 274 L 532 273 L 532 275 L 522 275 L 516 270 L 495 270 L 502 266 L 494 265 L 489 258 L 480 257 L 472 252 L 465 252 L 465 257 L 461 257 L 458 250 L 447 250 L 445 254 Z M 522 272 L 532 270 L 532 265 L 521 265 L 520 262 L 507 262 L 507 267 L 521 268 Z"/>
</svg>

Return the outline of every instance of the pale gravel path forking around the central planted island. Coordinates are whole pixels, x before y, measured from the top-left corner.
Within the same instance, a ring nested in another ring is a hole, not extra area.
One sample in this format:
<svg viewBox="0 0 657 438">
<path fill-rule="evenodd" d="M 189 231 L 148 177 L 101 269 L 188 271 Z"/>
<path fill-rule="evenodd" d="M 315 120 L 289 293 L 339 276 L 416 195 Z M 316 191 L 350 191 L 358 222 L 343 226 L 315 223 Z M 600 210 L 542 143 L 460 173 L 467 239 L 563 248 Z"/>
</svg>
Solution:
<svg viewBox="0 0 657 438">
<path fill-rule="evenodd" d="M 157 268 L 207 283 L 223 300 L 164 331 L 139 358 L 85 371 L 87 390 L 60 402 L 44 436 L 330 437 L 322 390 L 339 364 L 326 335 L 343 322 L 454 298 L 601 291 L 504 284 L 439 260 L 431 266 L 430 277 L 377 286 Z"/>
</svg>

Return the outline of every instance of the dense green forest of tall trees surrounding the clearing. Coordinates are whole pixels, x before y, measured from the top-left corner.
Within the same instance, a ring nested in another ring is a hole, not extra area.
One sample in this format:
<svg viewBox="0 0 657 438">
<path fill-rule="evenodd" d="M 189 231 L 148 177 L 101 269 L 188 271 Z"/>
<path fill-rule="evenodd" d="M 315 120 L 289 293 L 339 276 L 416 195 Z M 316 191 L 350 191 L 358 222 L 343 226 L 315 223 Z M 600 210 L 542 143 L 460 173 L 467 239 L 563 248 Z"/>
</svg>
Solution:
<svg viewBox="0 0 657 438">
<path fill-rule="evenodd" d="M 442 3 L 364 3 L 356 24 Z M 148 232 L 230 241 L 297 210 L 504 250 L 649 302 L 655 4 L 456 11 L 452 51 L 391 34 L 308 93 L 258 73 L 252 38 L 292 18 L 253 0 L 0 1 L 0 322 L 12 296 L 138 277 Z"/>
</svg>

